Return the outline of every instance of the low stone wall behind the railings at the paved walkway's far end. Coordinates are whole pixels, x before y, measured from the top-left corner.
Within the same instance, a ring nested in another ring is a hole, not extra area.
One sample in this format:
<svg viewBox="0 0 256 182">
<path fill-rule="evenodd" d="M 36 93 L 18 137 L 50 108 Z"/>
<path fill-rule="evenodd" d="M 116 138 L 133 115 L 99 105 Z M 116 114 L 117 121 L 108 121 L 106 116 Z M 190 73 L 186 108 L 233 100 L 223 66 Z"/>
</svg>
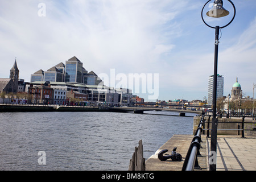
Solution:
<svg viewBox="0 0 256 182">
<path fill-rule="evenodd" d="M 203 129 L 208 128 L 208 117 L 205 117 L 205 125 L 203 126 Z M 194 117 L 193 119 L 193 134 L 195 134 L 196 129 L 199 125 L 199 122 L 201 120 L 201 117 Z M 212 117 L 210 118 L 210 123 L 209 123 L 209 134 L 212 129 Z M 237 129 L 242 129 L 242 118 L 218 118 L 218 135 L 240 135 L 242 136 L 242 131 L 237 130 Z M 225 123 L 220 123 L 220 122 L 225 122 Z M 234 122 L 239 122 L 239 123 L 234 123 Z M 253 123 L 246 123 L 246 122 L 253 122 Z M 256 136 L 255 131 L 247 131 L 247 130 L 253 130 L 256 127 L 256 121 L 251 119 L 251 118 L 245 118 L 245 123 L 244 123 L 244 129 L 245 129 L 245 137 L 246 136 Z M 204 134 L 207 134 L 207 130 L 203 131 Z"/>
</svg>

